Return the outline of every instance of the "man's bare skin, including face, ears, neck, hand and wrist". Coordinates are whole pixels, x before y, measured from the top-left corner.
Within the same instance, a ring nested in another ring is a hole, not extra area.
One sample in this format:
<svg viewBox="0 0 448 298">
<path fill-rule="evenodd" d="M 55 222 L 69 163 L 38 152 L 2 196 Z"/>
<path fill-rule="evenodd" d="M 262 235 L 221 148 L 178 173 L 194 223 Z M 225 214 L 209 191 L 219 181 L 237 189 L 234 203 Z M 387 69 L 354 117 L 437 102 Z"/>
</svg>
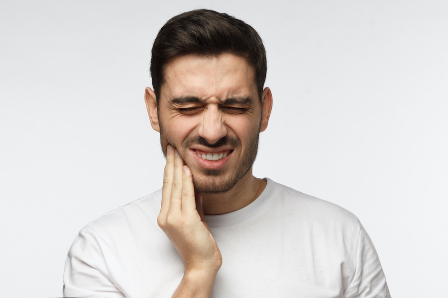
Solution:
<svg viewBox="0 0 448 298">
<path fill-rule="evenodd" d="M 204 214 L 241 209 L 266 186 L 252 163 L 272 94 L 265 88 L 260 102 L 253 68 L 233 54 L 179 56 L 164 74 L 158 103 L 150 88 L 145 101 L 167 159 L 158 224 L 185 267 L 173 297 L 210 297 L 222 257 Z M 208 161 L 197 153 L 227 156 Z"/>
</svg>

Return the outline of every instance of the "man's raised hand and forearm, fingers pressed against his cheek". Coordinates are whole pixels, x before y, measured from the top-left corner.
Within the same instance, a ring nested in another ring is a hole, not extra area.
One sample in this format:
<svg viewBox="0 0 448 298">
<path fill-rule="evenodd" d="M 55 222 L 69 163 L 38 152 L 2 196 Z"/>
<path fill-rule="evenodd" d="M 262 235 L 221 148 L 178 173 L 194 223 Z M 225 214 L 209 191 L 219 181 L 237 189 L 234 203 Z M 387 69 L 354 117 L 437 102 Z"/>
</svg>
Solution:
<svg viewBox="0 0 448 298">
<path fill-rule="evenodd" d="M 184 263 L 184 276 L 173 297 L 210 297 L 222 264 L 221 252 L 210 233 L 188 166 L 167 147 L 162 205 L 157 223 Z"/>
</svg>

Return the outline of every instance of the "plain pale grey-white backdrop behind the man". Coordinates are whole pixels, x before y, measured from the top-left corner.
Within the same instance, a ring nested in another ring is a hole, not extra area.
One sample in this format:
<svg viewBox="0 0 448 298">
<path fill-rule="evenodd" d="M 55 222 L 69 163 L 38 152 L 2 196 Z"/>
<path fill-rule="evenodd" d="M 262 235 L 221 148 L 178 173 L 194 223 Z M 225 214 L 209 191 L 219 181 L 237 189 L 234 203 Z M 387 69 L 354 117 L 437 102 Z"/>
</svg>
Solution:
<svg viewBox="0 0 448 298">
<path fill-rule="evenodd" d="M 353 212 L 394 298 L 448 297 L 445 0 L 1 1 L 2 296 L 61 297 L 77 232 L 161 187 L 150 50 L 196 8 L 264 40 L 255 175 Z"/>
</svg>

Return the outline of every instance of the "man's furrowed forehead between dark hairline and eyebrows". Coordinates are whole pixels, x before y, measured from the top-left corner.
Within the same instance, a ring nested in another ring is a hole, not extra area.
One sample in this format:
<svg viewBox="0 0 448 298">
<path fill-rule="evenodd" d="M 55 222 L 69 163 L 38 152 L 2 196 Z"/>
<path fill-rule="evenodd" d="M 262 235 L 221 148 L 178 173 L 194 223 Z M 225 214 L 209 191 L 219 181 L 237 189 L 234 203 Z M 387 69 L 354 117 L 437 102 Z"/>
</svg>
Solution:
<svg viewBox="0 0 448 298">
<path fill-rule="evenodd" d="M 161 98 L 195 96 L 224 100 L 234 96 L 256 97 L 254 69 L 234 54 L 183 55 L 170 60 L 164 70 Z"/>
</svg>

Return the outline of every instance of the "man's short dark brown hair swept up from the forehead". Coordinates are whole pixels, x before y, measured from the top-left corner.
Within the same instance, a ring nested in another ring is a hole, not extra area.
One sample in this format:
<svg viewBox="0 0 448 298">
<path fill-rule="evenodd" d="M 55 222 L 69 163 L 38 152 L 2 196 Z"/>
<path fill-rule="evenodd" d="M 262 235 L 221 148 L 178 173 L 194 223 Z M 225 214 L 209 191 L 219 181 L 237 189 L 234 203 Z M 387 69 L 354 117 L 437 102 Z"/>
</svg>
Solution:
<svg viewBox="0 0 448 298">
<path fill-rule="evenodd" d="M 261 101 L 266 79 L 266 50 L 251 26 L 226 13 L 198 9 L 171 18 L 160 29 L 151 53 L 150 74 L 157 98 L 164 82 L 164 69 L 170 59 L 186 54 L 219 56 L 231 53 L 253 66 Z"/>
</svg>

